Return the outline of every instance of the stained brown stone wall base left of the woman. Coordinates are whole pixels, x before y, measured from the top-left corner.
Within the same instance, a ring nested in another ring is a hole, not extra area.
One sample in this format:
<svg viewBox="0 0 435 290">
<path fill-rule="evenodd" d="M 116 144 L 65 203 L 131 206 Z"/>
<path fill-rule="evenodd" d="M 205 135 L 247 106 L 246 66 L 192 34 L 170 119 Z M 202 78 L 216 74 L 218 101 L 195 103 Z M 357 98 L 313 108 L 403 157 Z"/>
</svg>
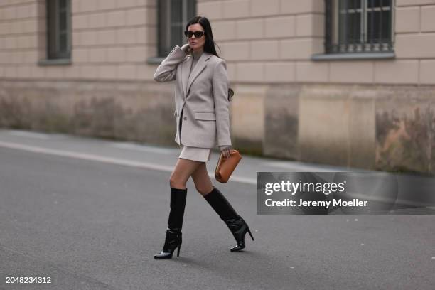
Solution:
<svg viewBox="0 0 435 290">
<path fill-rule="evenodd" d="M 172 89 L 137 82 L 0 82 L 0 127 L 171 146 Z"/>
</svg>

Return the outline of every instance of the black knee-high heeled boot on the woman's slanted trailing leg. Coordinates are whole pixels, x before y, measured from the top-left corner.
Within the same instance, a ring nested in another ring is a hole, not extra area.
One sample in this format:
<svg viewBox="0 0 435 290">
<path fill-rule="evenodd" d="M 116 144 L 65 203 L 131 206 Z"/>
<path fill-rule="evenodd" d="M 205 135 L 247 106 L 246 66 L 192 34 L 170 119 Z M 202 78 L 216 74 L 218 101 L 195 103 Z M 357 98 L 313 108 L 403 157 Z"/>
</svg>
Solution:
<svg viewBox="0 0 435 290">
<path fill-rule="evenodd" d="M 232 208 L 232 205 L 228 202 L 224 195 L 218 190 L 218 188 L 213 187 L 213 190 L 204 195 L 205 200 L 211 205 L 213 210 L 218 213 L 221 220 L 225 222 L 227 227 L 232 232 L 237 245 L 232 247 L 231 252 L 240 252 L 245 248 L 245 234 L 249 232 L 252 240 L 252 233 L 245 220 L 237 214 L 237 212 Z"/>
</svg>

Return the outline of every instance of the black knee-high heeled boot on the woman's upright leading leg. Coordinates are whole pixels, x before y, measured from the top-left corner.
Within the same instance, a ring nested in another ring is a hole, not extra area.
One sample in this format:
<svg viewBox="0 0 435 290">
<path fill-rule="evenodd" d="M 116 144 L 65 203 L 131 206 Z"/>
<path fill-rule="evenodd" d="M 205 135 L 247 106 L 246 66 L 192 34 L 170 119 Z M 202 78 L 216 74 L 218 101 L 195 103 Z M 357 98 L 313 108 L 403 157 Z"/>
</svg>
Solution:
<svg viewBox="0 0 435 290">
<path fill-rule="evenodd" d="M 172 254 L 178 247 L 177 257 L 181 248 L 181 228 L 183 227 L 184 208 L 186 207 L 186 189 L 171 188 L 171 211 L 169 212 L 168 228 L 163 249 L 154 259 L 171 259 Z"/>
</svg>

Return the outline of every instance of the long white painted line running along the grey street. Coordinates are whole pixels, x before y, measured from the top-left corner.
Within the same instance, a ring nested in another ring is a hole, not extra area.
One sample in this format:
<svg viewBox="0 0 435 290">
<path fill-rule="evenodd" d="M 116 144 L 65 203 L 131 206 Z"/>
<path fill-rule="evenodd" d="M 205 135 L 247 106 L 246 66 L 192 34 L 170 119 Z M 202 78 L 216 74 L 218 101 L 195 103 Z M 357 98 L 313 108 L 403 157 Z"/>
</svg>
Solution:
<svg viewBox="0 0 435 290">
<path fill-rule="evenodd" d="M 145 169 L 159 170 L 159 171 L 166 171 L 166 172 L 173 171 L 173 166 L 164 166 L 164 165 L 159 165 L 159 164 L 149 163 L 149 162 L 139 162 L 139 161 L 131 161 L 127 159 L 118 159 L 112 157 L 99 156 L 95 154 L 86 154 L 86 153 L 79 153 L 74 151 L 66 151 L 66 150 L 58 150 L 58 149 L 48 149 L 48 148 L 43 148 L 38 146 L 29 146 L 29 145 L 23 145 L 23 144 L 11 143 L 5 141 L 0 141 L 0 146 L 11 148 L 11 149 L 20 149 L 24 151 L 31 151 L 31 152 L 42 153 L 42 154 L 51 154 L 56 156 L 70 157 L 70 158 L 82 159 L 88 161 L 98 161 L 98 162 L 117 164 L 122 166 L 145 168 Z M 208 171 L 208 176 L 210 176 L 210 178 L 214 178 L 215 173 L 212 171 Z M 231 181 L 235 181 L 239 183 L 247 183 L 247 184 L 257 184 L 257 179 L 247 178 L 242 176 L 231 176 L 230 182 Z"/>
</svg>

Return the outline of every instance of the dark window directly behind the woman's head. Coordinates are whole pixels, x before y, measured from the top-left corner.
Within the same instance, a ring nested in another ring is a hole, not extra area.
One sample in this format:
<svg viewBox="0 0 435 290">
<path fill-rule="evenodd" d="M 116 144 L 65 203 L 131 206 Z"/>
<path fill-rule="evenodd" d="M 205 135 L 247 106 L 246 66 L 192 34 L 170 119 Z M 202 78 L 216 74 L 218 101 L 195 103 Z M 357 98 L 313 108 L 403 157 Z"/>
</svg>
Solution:
<svg viewBox="0 0 435 290">
<path fill-rule="evenodd" d="M 183 31 L 187 21 L 196 14 L 195 0 L 161 0 L 158 1 L 159 57 L 165 57 L 175 45 L 187 43 Z"/>
</svg>

